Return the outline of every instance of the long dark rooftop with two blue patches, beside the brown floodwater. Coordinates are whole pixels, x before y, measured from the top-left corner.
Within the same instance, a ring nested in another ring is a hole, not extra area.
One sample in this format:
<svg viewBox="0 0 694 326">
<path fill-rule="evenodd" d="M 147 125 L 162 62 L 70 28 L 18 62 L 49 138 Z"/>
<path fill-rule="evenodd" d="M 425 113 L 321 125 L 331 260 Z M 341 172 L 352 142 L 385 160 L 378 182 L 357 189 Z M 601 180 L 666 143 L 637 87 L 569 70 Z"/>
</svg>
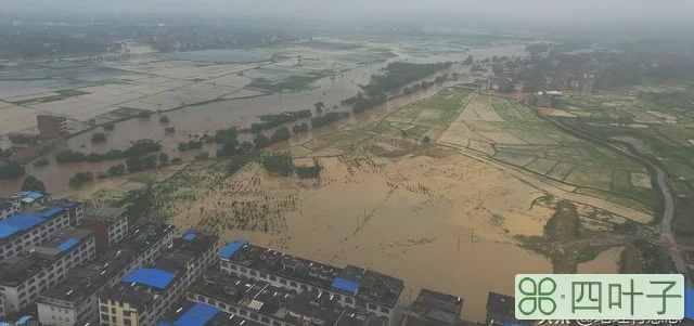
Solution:
<svg viewBox="0 0 694 326">
<path fill-rule="evenodd" d="M 357 299 L 395 307 L 404 289 L 402 279 L 354 265 L 345 269 L 322 264 L 236 240 L 227 245 L 220 257 L 266 273 L 282 275 L 300 283 L 310 284 Z"/>
</svg>

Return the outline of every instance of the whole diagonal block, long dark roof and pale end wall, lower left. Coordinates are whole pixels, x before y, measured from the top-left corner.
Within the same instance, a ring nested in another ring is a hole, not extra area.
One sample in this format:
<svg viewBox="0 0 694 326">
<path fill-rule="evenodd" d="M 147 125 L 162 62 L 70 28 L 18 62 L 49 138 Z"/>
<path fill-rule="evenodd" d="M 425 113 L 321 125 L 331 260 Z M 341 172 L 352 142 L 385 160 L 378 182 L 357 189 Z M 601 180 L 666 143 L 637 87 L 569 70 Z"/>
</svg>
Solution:
<svg viewBox="0 0 694 326">
<path fill-rule="evenodd" d="M 120 283 L 134 269 L 152 263 L 171 246 L 174 230 L 164 223 L 144 224 L 83 269 L 70 273 L 64 283 L 43 292 L 37 301 L 41 325 L 93 325 L 99 321 L 99 294 Z"/>
</svg>

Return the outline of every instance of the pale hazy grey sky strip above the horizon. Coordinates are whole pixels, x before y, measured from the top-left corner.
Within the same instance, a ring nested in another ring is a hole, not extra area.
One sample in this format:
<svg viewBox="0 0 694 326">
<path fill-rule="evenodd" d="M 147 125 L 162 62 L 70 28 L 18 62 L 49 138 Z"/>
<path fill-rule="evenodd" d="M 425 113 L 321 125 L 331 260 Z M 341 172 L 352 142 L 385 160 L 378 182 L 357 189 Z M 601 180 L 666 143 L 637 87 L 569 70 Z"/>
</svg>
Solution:
<svg viewBox="0 0 694 326">
<path fill-rule="evenodd" d="M 531 19 L 694 17 L 694 0 L 0 0 L 0 8 L 54 12 L 517 16 Z"/>
</svg>

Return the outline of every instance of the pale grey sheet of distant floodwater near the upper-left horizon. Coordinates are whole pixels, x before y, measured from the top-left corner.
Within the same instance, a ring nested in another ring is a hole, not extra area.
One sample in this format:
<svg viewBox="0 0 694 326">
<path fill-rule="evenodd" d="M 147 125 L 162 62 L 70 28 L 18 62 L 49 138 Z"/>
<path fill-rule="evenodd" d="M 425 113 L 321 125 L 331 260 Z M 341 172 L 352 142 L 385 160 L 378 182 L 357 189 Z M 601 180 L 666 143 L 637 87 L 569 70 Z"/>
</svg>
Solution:
<svg viewBox="0 0 694 326">
<path fill-rule="evenodd" d="M 272 54 L 260 50 L 218 49 L 201 51 L 183 51 L 159 54 L 170 60 L 183 60 L 207 63 L 250 63 L 272 58 Z"/>
</svg>

